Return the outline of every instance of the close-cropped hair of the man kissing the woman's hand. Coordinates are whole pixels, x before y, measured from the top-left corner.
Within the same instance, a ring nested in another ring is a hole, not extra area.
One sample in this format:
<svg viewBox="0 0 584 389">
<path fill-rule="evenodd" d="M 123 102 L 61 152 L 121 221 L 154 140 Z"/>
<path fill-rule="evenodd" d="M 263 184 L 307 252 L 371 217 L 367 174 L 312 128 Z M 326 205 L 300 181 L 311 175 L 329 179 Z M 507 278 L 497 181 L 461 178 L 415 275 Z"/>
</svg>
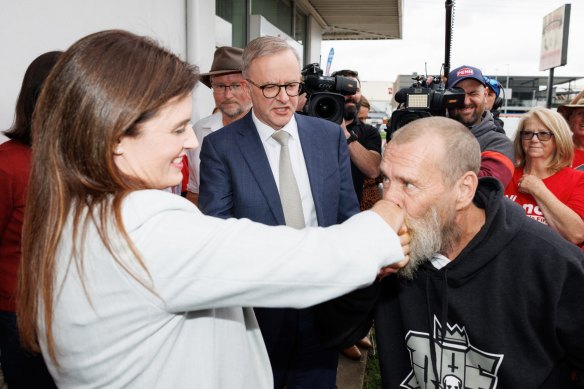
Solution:
<svg viewBox="0 0 584 389">
<path fill-rule="evenodd" d="M 481 166 L 479 142 L 468 128 L 456 120 L 439 116 L 414 120 L 396 131 L 391 143 L 410 143 L 425 134 L 438 136 L 443 142 L 436 146 L 444 148 L 439 164 L 447 184 L 454 184 L 468 171 L 478 175 Z M 432 136 L 429 137 L 431 139 Z"/>
</svg>

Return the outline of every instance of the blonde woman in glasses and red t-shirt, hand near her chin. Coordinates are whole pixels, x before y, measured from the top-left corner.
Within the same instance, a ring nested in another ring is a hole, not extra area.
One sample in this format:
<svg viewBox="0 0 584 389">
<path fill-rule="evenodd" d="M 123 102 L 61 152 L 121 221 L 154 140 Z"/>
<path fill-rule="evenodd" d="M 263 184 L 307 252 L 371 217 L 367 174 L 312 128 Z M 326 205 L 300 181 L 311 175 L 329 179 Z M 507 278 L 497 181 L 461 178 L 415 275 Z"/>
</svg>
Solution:
<svg viewBox="0 0 584 389">
<path fill-rule="evenodd" d="M 538 107 L 519 122 L 513 142 L 516 168 L 505 196 L 527 216 L 577 245 L 584 242 L 584 172 L 570 167 L 572 133 L 559 113 Z"/>
</svg>

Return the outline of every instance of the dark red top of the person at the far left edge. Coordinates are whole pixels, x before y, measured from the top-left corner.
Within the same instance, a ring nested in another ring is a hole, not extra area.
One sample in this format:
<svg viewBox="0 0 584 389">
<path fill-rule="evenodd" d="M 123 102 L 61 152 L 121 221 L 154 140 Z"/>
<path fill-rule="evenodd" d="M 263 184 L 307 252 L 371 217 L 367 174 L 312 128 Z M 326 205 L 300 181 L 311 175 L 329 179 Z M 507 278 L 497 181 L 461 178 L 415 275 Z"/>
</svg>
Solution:
<svg viewBox="0 0 584 389">
<path fill-rule="evenodd" d="M 22 143 L 0 144 L 0 311 L 15 310 L 30 158 L 30 147 Z"/>
</svg>

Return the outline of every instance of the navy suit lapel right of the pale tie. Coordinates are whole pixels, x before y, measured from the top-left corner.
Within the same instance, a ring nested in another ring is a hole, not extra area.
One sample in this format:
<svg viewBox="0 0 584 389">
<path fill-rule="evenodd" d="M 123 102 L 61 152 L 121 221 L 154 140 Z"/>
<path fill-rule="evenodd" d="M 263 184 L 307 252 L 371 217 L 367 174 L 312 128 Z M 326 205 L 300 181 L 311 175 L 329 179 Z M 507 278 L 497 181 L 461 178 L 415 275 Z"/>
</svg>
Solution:
<svg viewBox="0 0 584 389">
<path fill-rule="evenodd" d="M 323 155 L 326 151 L 318 149 L 318 146 L 322 145 L 322 142 L 318 138 L 320 129 L 314 126 L 311 128 L 302 115 L 295 115 L 296 122 L 298 123 L 298 136 L 300 137 L 300 144 L 304 153 L 304 162 L 308 171 L 312 199 L 314 200 L 316 209 L 316 218 L 320 224 L 324 220 L 323 206 L 325 199 L 322 198 L 322 179 L 325 174 Z"/>
</svg>

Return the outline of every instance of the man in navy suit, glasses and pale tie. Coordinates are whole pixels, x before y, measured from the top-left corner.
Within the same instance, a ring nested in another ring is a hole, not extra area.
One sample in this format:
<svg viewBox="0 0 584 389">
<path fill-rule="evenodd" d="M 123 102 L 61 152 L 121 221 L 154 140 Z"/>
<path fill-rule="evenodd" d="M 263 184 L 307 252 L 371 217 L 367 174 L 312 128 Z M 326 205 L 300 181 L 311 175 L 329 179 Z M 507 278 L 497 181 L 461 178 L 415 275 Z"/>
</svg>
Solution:
<svg viewBox="0 0 584 389">
<path fill-rule="evenodd" d="M 295 114 L 300 91 L 295 51 L 280 38 L 257 38 L 244 50 L 243 75 L 253 108 L 205 138 L 201 210 L 223 218 L 296 228 L 342 223 L 359 212 L 343 130 L 331 122 Z M 276 139 L 279 135 L 289 138 L 287 146 Z M 289 155 L 293 189 L 282 181 L 288 177 L 282 170 L 283 155 Z M 292 215 L 294 201 L 286 197 L 290 194 L 295 194 L 299 218 Z M 255 310 L 276 388 L 335 387 L 338 350 L 321 345 L 315 309 Z"/>
</svg>

